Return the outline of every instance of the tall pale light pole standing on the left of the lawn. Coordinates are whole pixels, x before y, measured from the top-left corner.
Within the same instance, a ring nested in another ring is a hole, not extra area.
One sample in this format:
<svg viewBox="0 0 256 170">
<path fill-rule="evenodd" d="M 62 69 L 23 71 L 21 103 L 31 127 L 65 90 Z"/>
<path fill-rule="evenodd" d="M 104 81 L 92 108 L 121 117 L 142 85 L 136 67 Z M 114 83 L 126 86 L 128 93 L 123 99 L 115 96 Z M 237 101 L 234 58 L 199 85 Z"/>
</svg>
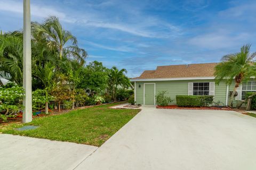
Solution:
<svg viewBox="0 0 256 170">
<path fill-rule="evenodd" d="M 31 82 L 31 25 L 30 0 L 23 0 L 23 114 L 22 122 L 32 121 L 32 82 Z"/>
</svg>

